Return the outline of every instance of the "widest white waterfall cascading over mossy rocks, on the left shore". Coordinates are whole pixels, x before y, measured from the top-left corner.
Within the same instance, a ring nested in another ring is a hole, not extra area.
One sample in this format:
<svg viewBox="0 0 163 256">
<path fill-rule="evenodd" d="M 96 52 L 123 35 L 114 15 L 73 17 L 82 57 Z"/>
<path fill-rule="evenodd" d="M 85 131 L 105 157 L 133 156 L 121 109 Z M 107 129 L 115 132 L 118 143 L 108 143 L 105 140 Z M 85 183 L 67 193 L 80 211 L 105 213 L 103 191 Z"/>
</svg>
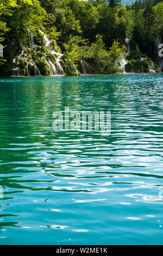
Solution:
<svg viewBox="0 0 163 256">
<path fill-rule="evenodd" d="M 43 32 L 40 31 L 42 34 Z M 48 54 L 43 53 L 43 57 L 46 59 L 46 63 L 51 71 L 51 76 L 55 75 L 65 75 L 64 70 L 60 64 L 62 55 L 57 47 L 51 48 L 52 41 L 48 40 L 47 36 L 43 36 L 43 45 L 46 46 L 47 52 L 50 52 L 55 57 L 55 63 L 48 57 Z M 20 45 L 21 50 L 18 52 L 17 56 L 13 59 L 13 76 L 41 76 L 41 72 L 37 67 L 34 59 L 33 53 L 41 50 L 41 46 L 36 45 L 34 37 L 30 35 L 29 47 Z M 26 68 L 22 68 L 22 66 Z"/>
</svg>

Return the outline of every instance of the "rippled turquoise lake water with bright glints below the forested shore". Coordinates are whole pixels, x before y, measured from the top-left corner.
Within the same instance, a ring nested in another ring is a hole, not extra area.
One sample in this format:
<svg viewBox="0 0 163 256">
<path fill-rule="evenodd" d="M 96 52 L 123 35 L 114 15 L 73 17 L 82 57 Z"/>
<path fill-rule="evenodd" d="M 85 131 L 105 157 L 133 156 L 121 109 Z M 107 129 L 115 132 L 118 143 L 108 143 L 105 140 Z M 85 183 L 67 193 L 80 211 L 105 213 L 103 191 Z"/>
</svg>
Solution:
<svg viewBox="0 0 163 256">
<path fill-rule="evenodd" d="M 0 78 L 0 244 L 162 245 L 162 89 L 163 74 Z M 65 107 L 111 111 L 111 134 L 54 131 Z"/>
</svg>

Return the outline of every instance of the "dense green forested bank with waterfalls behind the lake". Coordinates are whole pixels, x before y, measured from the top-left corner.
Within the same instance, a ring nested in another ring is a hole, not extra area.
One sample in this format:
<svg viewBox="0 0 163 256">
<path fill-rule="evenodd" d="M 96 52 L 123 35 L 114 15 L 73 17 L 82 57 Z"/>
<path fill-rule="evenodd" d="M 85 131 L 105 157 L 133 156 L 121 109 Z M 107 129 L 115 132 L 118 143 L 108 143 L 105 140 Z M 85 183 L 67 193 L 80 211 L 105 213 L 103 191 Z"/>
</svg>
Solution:
<svg viewBox="0 0 163 256">
<path fill-rule="evenodd" d="M 160 72 L 162 38 L 163 1 L 0 0 L 1 76 Z"/>
</svg>

